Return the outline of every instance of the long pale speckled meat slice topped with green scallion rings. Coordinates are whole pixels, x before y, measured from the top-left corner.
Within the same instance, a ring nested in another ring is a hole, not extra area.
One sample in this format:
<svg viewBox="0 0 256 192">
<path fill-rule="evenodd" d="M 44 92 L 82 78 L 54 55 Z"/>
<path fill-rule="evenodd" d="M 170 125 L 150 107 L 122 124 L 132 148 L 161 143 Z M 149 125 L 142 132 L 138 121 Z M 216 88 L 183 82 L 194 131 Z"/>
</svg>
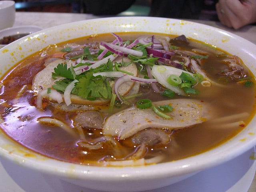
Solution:
<svg viewBox="0 0 256 192">
<path fill-rule="evenodd" d="M 164 119 L 152 109 L 128 108 L 108 117 L 104 123 L 105 135 L 116 136 L 119 139 L 128 138 L 146 128 L 178 129 L 202 123 L 210 118 L 210 104 L 194 99 L 175 99 L 154 102 L 154 105 L 169 104 L 173 107 Z"/>
</svg>

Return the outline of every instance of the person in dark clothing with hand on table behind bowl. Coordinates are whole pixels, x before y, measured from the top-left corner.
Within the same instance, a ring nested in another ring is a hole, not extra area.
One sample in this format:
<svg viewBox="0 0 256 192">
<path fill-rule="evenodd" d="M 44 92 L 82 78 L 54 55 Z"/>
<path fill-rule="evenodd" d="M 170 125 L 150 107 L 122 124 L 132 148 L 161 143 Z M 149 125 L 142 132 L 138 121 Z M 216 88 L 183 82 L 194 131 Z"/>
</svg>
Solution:
<svg viewBox="0 0 256 192">
<path fill-rule="evenodd" d="M 138 0 L 137 0 L 138 1 Z M 86 13 L 116 15 L 127 10 L 136 0 L 85 0 Z M 143 0 L 139 1 L 143 4 Z M 150 5 L 148 16 L 220 20 L 229 28 L 238 29 L 256 22 L 256 0 L 144 0 Z"/>
</svg>

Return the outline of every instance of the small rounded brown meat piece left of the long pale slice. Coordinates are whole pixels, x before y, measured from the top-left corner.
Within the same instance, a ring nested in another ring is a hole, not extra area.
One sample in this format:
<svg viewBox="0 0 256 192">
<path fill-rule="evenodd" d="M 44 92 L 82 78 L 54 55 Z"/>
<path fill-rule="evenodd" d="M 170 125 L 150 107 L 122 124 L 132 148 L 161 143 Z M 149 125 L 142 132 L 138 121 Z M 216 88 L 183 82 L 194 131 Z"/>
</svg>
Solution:
<svg viewBox="0 0 256 192">
<path fill-rule="evenodd" d="M 74 118 L 74 124 L 83 128 L 102 129 L 103 121 L 102 115 L 96 111 L 85 111 Z"/>
</svg>

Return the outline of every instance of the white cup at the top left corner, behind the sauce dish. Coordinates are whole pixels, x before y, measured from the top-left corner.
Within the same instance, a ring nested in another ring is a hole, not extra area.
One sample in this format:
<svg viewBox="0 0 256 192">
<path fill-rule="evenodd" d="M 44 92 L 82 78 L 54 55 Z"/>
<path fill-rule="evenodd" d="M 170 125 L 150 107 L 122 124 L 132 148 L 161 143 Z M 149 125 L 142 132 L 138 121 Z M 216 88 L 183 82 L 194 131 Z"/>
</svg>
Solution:
<svg viewBox="0 0 256 192">
<path fill-rule="evenodd" d="M 12 27 L 15 21 L 15 2 L 0 1 L 0 30 Z"/>
</svg>

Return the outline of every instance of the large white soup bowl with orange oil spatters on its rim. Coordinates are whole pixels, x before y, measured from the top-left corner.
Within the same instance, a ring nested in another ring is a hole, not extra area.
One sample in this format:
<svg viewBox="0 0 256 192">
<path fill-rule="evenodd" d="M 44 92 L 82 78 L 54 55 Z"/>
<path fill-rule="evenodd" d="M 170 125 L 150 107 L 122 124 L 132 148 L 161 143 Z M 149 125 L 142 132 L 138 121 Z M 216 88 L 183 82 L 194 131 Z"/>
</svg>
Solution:
<svg viewBox="0 0 256 192">
<path fill-rule="evenodd" d="M 30 54 L 66 40 L 109 32 L 161 32 L 208 42 L 242 58 L 256 74 L 256 45 L 211 26 L 150 17 L 114 17 L 84 20 L 41 30 L 0 49 L 0 75 Z M 71 164 L 40 156 L 13 142 L 0 131 L 0 155 L 27 168 L 58 176 L 68 182 L 104 191 L 142 191 L 183 180 L 201 170 L 222 164 L 256 145 L 256 117 L 228 142 L 202 154 L 138 167 L 98 167 Z M 248 157 L 249 158 L 249 157 Z M 24 176 L 26 173 L 24 173 Z"/>
</svg>

